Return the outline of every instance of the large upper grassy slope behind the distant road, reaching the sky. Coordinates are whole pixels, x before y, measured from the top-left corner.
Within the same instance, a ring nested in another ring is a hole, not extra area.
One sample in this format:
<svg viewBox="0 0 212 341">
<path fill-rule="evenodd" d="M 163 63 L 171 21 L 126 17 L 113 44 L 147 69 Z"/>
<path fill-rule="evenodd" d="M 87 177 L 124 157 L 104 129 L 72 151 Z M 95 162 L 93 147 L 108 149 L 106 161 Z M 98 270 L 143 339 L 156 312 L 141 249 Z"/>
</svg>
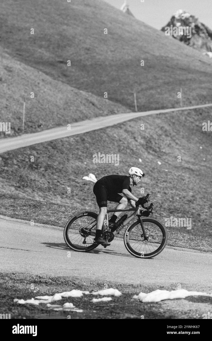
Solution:
<svg viewBox="0 0 212 341">
<path fill-rule="evenodd" d="M 138 110 L 179 106 L 180 87 L 185 105 L 212 101 L 212 60 L 102 0 L 2 0 L 0 31 L 15 60 L 133 110 L 134 89 Z"/>
</svg>

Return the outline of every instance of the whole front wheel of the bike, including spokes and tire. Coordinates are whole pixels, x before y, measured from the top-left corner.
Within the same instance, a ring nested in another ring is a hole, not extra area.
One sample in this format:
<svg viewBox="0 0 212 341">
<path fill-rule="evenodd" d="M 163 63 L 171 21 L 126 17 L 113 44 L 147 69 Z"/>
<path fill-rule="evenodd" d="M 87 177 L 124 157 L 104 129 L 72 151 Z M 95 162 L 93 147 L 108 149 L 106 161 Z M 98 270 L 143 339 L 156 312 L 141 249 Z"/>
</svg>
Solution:
<svg viewBox="0 0 212 341">
<path fill-rule="evenodd" d="M 142 219 L 147 240 L 144 238 L 139 220 L 133 222 L 125 231 L 125 247 L 133 256 L 152 258 L 166 246 L 168 235 L 165 226 L 153 218 Z"/>
</svg>

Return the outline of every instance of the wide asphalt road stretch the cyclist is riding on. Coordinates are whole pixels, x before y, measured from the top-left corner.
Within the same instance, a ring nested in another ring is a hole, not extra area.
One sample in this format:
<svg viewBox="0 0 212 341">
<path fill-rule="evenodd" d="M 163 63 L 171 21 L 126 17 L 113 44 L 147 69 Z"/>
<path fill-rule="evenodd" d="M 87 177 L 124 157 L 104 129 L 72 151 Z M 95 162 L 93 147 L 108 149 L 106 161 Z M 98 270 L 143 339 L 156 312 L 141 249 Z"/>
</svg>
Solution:
<svg viewBox="0 0 212 341">
<path fill-rule="evenodd" d="M 140 259 L 127 252 L 122 239 L 114 239 L 106 249 L 99 246 L 84 253 L 66 246 L 60 228 L 0 219 L 0 231 L 0 271 L 160 287 L 176 283 L 177 288 L 181 283 L 185 289 L 211 290 L 209 253 L 165 248 L 152 259 Z"/>
</svg>

